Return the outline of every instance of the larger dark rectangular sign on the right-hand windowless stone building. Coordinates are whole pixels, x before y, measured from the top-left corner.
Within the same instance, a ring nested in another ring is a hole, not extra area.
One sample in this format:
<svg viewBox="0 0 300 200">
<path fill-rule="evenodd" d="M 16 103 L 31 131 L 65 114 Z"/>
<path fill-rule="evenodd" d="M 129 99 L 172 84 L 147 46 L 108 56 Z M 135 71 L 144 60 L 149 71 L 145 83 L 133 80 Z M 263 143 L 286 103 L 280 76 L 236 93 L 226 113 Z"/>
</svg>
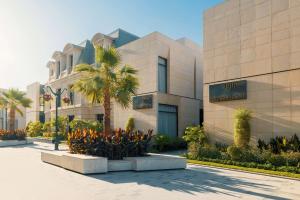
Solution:
<svg viewBox="0 0 300 200">
<path fill-rule="evenodd" d="M 209 102 L 247 99 L 247 81 L 234 81 L 209 86 Z"/>
</svg>

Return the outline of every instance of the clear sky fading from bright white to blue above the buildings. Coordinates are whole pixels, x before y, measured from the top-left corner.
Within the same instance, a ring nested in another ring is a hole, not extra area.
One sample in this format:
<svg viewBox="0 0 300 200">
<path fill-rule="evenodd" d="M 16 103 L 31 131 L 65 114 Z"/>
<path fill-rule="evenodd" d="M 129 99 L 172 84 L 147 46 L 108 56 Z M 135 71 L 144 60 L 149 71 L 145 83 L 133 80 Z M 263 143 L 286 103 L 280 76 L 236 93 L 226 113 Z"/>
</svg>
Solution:
<svg viewBox="0 0 300 200">
<path fill-rule="evenodd" d="M 159 31 L 202 46 L 202 13 L 223 0 L 0 0 L 0 88 L 48 79 L 46 63 L 67 43 L 117 28 Z"/>
</svg>

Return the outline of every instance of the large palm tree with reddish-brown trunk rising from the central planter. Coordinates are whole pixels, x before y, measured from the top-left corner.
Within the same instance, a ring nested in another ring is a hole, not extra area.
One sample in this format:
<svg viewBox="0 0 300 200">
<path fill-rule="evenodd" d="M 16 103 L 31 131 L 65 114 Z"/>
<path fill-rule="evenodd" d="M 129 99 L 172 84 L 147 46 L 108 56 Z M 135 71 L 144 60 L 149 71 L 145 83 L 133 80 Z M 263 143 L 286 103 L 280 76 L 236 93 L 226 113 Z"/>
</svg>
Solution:
<svg viewBox="0 0 300 200">
<path fill-rule="evenodd" d="M 110 134 L 111 99 L 127 108 L 138 88 L 137 70 L 129 65 L 120 66 L 121 56 L 114 47 L 95 46 L 95 64 L 79 64 L 75 71 L 82 72 L 73 89 L 84 94 L 91 103 L 104 106 L 104 133 Z"/>
</svg>

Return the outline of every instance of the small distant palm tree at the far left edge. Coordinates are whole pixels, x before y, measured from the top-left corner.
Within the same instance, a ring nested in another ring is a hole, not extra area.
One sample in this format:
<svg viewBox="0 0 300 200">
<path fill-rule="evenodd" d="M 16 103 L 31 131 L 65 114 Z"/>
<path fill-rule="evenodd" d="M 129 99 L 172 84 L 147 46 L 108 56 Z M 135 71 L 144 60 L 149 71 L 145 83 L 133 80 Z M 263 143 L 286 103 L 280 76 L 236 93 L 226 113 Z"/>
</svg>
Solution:
<svg viewBox="0 0 300 200">
<path fill-rule="evenodd" d="M 29 108 L 31 99 L 26 98 L 26 94 L 18 89 L 9 89 L 0 94 L 0 107 L 9 110 L 9 130 L 13 131 L 15 127 L 16 112 L 23 116 L 20 106 Z"/>
</svg>

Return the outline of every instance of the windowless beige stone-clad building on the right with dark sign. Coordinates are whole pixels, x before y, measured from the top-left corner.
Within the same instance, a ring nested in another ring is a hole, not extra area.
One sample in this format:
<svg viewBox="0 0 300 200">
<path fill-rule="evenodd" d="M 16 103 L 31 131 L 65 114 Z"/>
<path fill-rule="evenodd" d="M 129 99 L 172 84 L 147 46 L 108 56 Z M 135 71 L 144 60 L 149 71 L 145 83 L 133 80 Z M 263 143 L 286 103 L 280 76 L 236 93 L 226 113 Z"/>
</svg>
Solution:
<svg viewBox="0 0 300 200">
<path fill-rule="evenodd" d="M 226 0 L 204 13 L 204 123 L 232 142 L 234 111 L 253 111 L 252 141 L 300 132 L 300 4 Z"/>
</svg>

